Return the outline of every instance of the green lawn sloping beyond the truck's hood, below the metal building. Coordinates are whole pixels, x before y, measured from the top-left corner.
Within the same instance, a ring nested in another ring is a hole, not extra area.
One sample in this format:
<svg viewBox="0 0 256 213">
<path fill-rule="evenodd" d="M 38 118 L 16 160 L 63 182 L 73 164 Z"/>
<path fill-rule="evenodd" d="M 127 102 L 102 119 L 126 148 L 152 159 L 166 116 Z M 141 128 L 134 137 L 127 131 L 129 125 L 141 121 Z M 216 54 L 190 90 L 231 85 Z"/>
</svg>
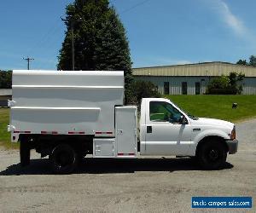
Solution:
<svg viewBox="0 0 256 213">
<path fill-rule="evenodd" d="M 256 95 L 165 95 L 185 112 L 231 122 L 256 116 Z M 232 109 L 232 103 L 238 107 Z"/>
</svg>

